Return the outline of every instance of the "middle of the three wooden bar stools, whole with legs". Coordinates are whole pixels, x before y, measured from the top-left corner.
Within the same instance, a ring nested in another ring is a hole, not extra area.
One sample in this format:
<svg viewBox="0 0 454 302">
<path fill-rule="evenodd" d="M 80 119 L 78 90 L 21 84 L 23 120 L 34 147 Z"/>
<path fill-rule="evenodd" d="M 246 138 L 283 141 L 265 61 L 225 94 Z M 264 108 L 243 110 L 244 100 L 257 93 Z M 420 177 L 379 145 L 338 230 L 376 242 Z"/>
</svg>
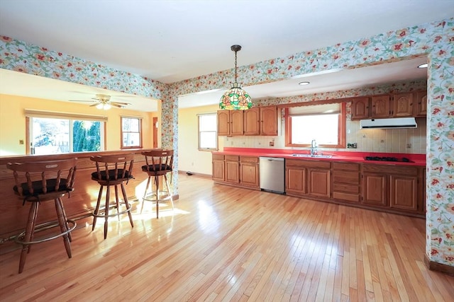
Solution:
<svg viewBox="0 0 454 302">
<path fill-rule="evenodd" d="M 132 170 L 134 163 L 134 154 L 122 154 L 122 155 L 106 155 L 106 156 L 91 156 L 90 160 L 96 163 L 96 172 L 92 173 L 92 180 L 101 185 L 99 187 L 98 201 L 96 202 L 96 207 L 93 211 L 93 226 L 96 226 L 96 219 L 98 217 L 104 217 L 104 239 L 107 238 L 107 227 L 109 225 L 108 219 L 112 216 L 118 216 L 120 219 L 121 214 L 128 213 L 129 221 L 131 226 L 134 227 L 133 216 L 131 215 L 131 206 L 128 203 L 128 197 L 126 196 L 126 190 L 124 187 L 124 182 L 128 183 L 128 180 L 133 178 Z M 115 188 L 115 199 L 116 204 L 116 213 L 109 214 L 110 203 L 110 187 L 111 185 Z M 126 209 L 120 211 L 120 202 L 118 199 L 118 185 L 121 186 L 121 193 L 123 194 L 123 202 L 126 206 Z M 104 209 L 99 209 L 101 206 L 101 197 L 103 188 L 107 187 L 106 190 L 106 202 Z"/>
</svg>

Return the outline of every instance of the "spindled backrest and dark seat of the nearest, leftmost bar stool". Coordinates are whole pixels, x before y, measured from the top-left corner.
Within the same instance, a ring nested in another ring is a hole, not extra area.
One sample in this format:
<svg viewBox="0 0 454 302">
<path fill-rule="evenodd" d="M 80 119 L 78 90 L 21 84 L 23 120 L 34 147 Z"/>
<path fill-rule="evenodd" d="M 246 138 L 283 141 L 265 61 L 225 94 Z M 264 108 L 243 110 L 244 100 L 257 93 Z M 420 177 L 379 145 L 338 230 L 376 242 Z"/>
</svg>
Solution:
<svg viewBox="0 0 454 302">
<path fill-rule="evenodd" d="M 7 163 L 13 170 L 16 186 L 13 190 L 21 197 L 37 197 L 55 192 L 74 190 L 77 158 L 60 161 L 35 161 L 30 163 Z M 50 199 L 55 197 L 49 197 Z M 24 199 L 25 200 L 25 199 Z"/>
</svg>

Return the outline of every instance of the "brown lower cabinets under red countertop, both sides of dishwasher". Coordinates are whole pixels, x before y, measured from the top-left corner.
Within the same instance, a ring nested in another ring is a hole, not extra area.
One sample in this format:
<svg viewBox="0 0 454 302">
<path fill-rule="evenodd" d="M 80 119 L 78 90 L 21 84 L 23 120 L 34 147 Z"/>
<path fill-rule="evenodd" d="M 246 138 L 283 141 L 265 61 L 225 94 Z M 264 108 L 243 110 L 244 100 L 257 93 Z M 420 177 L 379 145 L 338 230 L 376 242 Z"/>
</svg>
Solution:
<svg viewBox="0 0 454 302">
<path fill-rule="evenodd" d="M 260 190 L 258 156 L 213 154 L 215 182 Z M 285 192 L 326 202 L 356 204 L 423 216 L 425 168 L 287 158 Z"/>
</svg>

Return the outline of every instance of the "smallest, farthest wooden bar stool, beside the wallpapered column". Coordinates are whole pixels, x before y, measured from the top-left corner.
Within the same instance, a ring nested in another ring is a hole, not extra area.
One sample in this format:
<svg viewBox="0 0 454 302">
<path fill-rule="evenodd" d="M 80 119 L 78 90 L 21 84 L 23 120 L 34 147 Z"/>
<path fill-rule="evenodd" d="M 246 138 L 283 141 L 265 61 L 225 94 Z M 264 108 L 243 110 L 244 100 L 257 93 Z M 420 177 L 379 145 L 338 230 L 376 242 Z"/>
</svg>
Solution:
<svg viewBox="0 0 454 302">
<path fill-rule="evenodd" d="M 170 200 L 173 206 L 172 192 L 170 191 L 169 182 L 167 180 L 167 173 L 172 173 L 173 165 L 173 150 L 153 150 L 153 151 L 143 151 L 141 153 L 145 156 L 146 165 L 142 166 L 143 172 L 148 174 L 147 186 L 145 187 L 145 192 L 143 194 L 142 208 L 140 209 L 140 214 L 143 211 L 143 204 L 148 202 L 156 203 L 156 218 L 159 218 L 159 203 Z M 164 177 L 165 186 L 167 191 L 160 190 L 160 176 Z M 151 185 L 151 180 L 155 182 L 155 192 L 153 192 L 153 185 Z M 151 186 L 150 186 L 151 185 Z M 148 193 L 148 188 L 150 187 L 150 193 Z M 148 195 L 148 196 L 147 196 Z M 153 198 L 154 197 L 154 198 Z"/>
</svg>

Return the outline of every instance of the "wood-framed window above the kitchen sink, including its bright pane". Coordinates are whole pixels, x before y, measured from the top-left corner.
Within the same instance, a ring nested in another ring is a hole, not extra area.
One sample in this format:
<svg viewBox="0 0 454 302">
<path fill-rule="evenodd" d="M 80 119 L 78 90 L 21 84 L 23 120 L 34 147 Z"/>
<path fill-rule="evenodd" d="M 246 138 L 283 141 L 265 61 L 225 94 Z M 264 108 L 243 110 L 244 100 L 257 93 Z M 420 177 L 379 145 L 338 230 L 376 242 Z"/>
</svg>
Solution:
<svg viewBox="0 0 454 302">
<path fill-rule="evenodd" d="M 285 146 L 345 148 L 345 103 L 287 108 Z"/>
</svg>

